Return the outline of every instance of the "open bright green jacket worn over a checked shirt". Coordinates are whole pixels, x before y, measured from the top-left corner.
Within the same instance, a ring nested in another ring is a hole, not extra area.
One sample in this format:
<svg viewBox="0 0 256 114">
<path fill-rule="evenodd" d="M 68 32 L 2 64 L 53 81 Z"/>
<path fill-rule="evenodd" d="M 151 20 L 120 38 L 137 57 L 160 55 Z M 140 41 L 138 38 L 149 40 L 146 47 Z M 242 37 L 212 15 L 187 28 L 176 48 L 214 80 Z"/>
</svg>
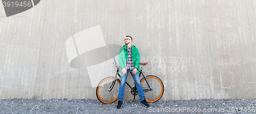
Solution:
<svg viewBox="0 0 256 114">
<path fill-rule="evenodd" d="M 134 69 L 137 68 L 137 73 L 139 73 L 140 71 L 140 54 L 139 54 L 139 50 L 132 45 L 133 49 L 132 49 L 132 60 L 133 60 L 133 66 Z M 119 54 L 118 54 L 118 62 L 120 65 L 120 69 L 119 72 L 122 73 L 122 69 L 126 66 L 127 63 L 127 58 L 128 58 L 128 50 L 127 50 L 127 45 L 123 45 L 123 47 L 120 49 Z"/>
</svg>

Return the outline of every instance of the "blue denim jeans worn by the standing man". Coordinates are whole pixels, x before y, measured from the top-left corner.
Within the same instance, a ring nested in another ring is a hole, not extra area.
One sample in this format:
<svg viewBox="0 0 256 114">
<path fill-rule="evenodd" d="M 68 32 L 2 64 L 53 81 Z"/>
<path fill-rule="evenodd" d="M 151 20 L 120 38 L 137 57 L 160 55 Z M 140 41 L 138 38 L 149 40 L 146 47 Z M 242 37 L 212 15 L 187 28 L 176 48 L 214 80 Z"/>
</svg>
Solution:
<svg viewBox="0 0 256 114">
<path fill-rule="evenodd" d="M 133 71 L 128 71 L 127 70 L 126 75 L 124 75 L 123 73 L 121 74 L 121 83 L 119 85 L 118 101 L 123 101 L 125 82 L 126 82 L 126 79 L 127 79 L 127 76 L 129 74 L 129 72 L 132 75 L 133 80 L 135 82 L 135 85 L 136 85 L 136 88 L 137 88 L 137 91 L 138 91 L 138 94 L 139 94 L 140 101 L 146 99 L 145 96 L 144 96 L 144 93 L 143 93 L 142 85 L 140 84 L 139 74 L 136 73 L 135 75 L 133 75 Z"/>
</svg>

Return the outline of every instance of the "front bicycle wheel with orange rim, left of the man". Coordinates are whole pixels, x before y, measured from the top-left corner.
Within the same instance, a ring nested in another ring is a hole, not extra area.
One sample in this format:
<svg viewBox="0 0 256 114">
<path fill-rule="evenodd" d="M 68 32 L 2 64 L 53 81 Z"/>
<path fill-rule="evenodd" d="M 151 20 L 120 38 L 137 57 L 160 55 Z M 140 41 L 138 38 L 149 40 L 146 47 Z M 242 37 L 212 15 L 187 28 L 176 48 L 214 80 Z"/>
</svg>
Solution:
<svg viewBox="0 0 256 114">
<path fill-rule="evenodd" d="M 106 77 L 100 81 L 96 88 L 96 96 L 102 103 L 113 103 L 118 99 L 120 80 Z"/>
</svg>

